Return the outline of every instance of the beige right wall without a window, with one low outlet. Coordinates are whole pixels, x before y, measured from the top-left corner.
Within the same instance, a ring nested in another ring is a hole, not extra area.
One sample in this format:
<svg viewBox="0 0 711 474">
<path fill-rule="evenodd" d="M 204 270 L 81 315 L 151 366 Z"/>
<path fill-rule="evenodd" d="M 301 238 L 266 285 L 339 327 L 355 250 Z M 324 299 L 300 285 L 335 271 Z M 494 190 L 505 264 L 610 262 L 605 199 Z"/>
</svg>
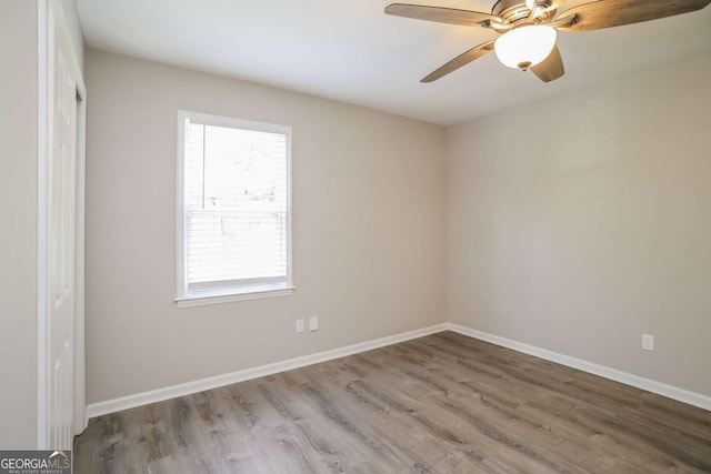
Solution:
<svg viewBox="0 0 711 474">
<path fill-rule="evenodd" d="M 711 56 L 448 149 L 450 321 L 711 395 Z"/>
</svg>

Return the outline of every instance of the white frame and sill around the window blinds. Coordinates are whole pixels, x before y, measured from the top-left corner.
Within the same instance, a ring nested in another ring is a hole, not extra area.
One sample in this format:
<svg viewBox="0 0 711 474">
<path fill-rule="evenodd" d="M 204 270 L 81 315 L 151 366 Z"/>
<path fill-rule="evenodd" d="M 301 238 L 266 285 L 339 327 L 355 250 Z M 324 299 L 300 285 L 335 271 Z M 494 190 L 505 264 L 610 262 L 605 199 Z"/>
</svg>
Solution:
<svg viewBox="0 0 711 474">
<path fill-rule="evenodd" d="M 287 283 L 276 289 L 230 288 L 214 291 L 188 291 L 187 268 L 187 228 L 184 213 L 184 140 L 186 120 L 206 125 L 228 127 L 233 129 L 252 130 L 259 132 L 281 133 L 287 137 Z M 179 307 L 203 304 L 228 303 L 232 301 L 256 300 L 272 296 L 287 296 L 293 293 L 293 269 L 291 259 L 291 127 L 272 123 L 254 122 L 251 120 L 230 117 L 212 115 L 208 113 L 178 111 L 178 160 L 177 160 L 177 297 Z"/>
</svg>

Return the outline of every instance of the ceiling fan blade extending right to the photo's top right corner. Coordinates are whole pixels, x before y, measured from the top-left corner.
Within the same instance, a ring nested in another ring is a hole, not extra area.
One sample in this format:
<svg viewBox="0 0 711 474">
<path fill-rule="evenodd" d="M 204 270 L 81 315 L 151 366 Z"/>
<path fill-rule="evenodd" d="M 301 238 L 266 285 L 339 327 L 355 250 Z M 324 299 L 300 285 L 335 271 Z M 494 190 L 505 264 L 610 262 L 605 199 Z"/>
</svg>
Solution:
<svg viewBox="0 0 711 474">
<path fill-rule="evenodd" d="M 639 23 L 701 10 L 711 0 L 605 0 L 573 7 L 559 18 L 577 16 L 562 31 L 588 31 Z"/>
</svg>

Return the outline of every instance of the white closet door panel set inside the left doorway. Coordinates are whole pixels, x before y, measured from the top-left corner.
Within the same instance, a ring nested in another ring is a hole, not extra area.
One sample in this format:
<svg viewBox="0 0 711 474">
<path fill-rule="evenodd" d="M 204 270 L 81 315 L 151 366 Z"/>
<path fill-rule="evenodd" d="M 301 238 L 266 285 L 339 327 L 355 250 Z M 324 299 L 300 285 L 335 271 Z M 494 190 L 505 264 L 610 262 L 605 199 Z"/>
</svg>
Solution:
<svg viewBox="0 0 711 474">
<path fill-rule="evenodd" d="M 49 162 L 49 446 L 73 440 L 74 273 L 77 223 L 77 78 L 63 19 L 56 21 L 53 143 Z"/>
</svg>

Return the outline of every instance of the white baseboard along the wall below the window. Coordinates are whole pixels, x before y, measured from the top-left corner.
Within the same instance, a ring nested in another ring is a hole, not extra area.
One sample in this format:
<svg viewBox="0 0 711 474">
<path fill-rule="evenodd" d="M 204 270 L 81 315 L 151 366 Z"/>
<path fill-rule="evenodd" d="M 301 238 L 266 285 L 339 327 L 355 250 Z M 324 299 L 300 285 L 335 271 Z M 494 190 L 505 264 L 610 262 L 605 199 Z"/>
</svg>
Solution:
<svg viewBox="0 0 711 474">
<path fill-rule="evenodd" d="M 90 418 L 93 418 L 108 413 L 120 412 L 121 410 L 162 402 L 178 396 L 190 395 L 192 393 L 203 392 L 219 386 L 231 385 L 238 382 L 259 379 L 266 375 L 273 375 L 292 369 L 299 369 L 307 365 L 318 364 L 320 362 L 331 361 L 333 359 L 344 357 L 347 355 L 358 354 L 359 352 L 365 352 L 383 347 L 385 345 L 410 341 L 412 339 L 422 337 L 445 330 L 447 324 L 437 324 L 420 330 L 408 331 L 372 341 L 347 345 L 344 347 L 333 349 L 331 351 L 318 352 L 316 354 L 303 355 L 300 357 L 289 359 L 287 361 L 274 362 L 272 364 L 260 365 L 258 367 L 246 369 L 229 374 L 216 375 L 179 385 L 166 386 L 162 389 L 151 390 L 149 392 L 137 393 L 134 395 L 121 396 L 119 399 L 107 400 L 106 402 L 92 403 L 87 406 L 87 413 Z"/>
</svg>

